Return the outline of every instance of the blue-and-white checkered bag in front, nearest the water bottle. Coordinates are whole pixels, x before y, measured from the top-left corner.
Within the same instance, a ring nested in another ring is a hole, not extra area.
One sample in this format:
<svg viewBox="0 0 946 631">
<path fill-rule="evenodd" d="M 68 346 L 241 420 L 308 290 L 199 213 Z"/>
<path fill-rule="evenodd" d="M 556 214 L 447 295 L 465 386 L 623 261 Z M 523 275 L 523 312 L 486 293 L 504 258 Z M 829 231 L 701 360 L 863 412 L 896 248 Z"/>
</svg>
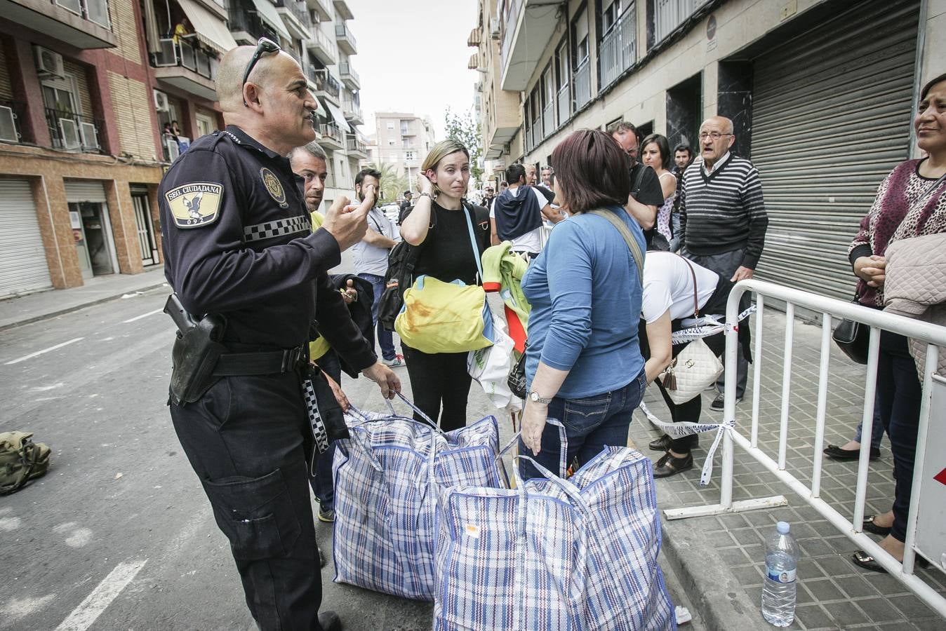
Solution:
<svg viewBox="0 0 946 631">
<path fill-rule="evenodd" d="M 435 631 L 675 629 L 650 460 L 612 447 L 569 480 L 540 470 L 441 489 Z"/>
</svg>

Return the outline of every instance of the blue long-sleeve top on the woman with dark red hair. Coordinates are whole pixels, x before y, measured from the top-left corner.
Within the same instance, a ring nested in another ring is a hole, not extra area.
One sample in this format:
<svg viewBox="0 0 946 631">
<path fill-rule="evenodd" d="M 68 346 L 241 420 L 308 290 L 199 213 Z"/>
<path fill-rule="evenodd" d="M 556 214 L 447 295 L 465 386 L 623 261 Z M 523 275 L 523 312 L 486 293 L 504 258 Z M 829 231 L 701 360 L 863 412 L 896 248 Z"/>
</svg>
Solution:
<svg viewBox="0 0 946 631">
<path fill-rule="evenodd" d="M 643 252 L 637 222 L 616 213 Z M 604 217 L 578 214 L 557 224 L 522 278 L 532 304 L 526 349 L 530 387 L 539 360 L 569 376 L 557 396 L 590 397 L 616 390 L 644 366 L 638 345 L 640 286 L 637 264 L 621 232 Z M 539 393 L 546 394 L 546 393 Z"/>
</svg>

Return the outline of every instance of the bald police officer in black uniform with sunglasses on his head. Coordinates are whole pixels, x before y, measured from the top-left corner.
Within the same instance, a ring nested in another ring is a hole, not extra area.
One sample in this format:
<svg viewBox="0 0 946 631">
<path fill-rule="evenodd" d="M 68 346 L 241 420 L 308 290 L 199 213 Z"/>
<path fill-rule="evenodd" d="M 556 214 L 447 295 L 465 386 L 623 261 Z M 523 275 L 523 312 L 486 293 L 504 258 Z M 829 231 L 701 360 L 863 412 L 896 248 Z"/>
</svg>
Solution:
<svg viewBox="0 0 946 631">
<path fill-rule="evenodd" d="M 299 64 L 275 43 L 224 55 L 217 94 L 226 129 L 191 145 L 158 197 L 167 281 L 195 318 L 225 319 L 226 350 L 196 401 L 172 397 L 171 418 L 230 540 L 258 626 L 331 631 L 341 622 L 318 612 L 312 432 L 298 358 L 306 361 L 317 320 L 319 333 L 385 397 L 400 390 L 326 274 L 364 236 L 375 196 L 358 208 L 342 197 L 323 227 L 309 230 L 286 156 L 315 139 L 316 103 Z"/>
</svg>

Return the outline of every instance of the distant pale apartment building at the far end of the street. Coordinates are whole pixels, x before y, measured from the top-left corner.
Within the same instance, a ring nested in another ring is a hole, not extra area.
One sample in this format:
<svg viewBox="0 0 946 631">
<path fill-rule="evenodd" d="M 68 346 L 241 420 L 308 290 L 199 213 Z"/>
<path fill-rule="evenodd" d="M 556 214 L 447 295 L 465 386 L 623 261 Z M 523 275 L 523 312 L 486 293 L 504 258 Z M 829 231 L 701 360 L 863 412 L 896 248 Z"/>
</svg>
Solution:
<svg viewBox="0 0 946 631">
<path fill-rule="evenodd" d="M 429 116 L 403 111 L 378 111 L 371 140 L 369 160 L 391 164 L 394 172 L 405 175 L 408 182 L 417 177 L 421 163 L 436 143 Z"/>
</svg>

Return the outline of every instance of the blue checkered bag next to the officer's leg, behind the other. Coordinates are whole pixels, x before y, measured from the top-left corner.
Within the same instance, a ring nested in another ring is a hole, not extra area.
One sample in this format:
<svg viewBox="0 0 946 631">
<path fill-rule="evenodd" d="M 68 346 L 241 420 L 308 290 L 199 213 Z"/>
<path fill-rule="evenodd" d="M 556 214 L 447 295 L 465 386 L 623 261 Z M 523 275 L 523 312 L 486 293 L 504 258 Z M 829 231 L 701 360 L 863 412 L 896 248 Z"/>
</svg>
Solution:
<svg viewBox="0 0 946 631">
<path fill-rule="evenodd" d="M 370 417 L 349 423 L 332 467 L 335 580 L 433 600 L 437 490 L 500 486 L 496 418 L 443 434 L 412 418 Z"/>
</svg>

